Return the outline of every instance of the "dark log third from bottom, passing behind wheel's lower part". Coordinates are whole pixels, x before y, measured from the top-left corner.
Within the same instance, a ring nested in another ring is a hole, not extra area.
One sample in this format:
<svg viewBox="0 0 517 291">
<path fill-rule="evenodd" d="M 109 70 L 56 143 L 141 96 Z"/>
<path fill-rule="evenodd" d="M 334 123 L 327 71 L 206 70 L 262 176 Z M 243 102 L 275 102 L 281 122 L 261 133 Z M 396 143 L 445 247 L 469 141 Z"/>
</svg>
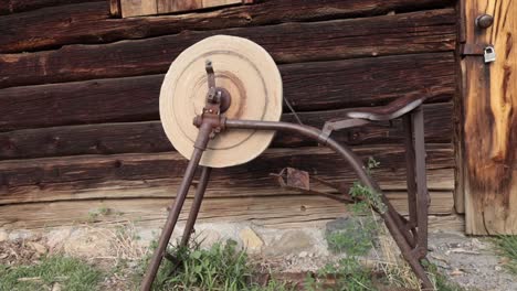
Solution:
<svg viewBox="0 0 517 291">
<path fill-rule="evenodd" d="M 305 125 L 323 128 L 326 120 L 342 116 L 344 110 L 299 112 Z M 292 114 L 283 121 L 296 122 Z M 425 140 L 432 143 L 452 142 L 452 104 L 424 105 Z M 371 123 L 336 131 L 333 138 L 345 144 L 403 143 L 400 120 Z M 273 147 L 317 146 L 306 138 L 276 134 Z M 0 133 L 0 159 L 27 159 L 76 154 L 114 154 L 129 152 L 165 152 L 172 146 L 165 136 L 160 121 L 67 126 L 25 129 Z"/>
</svg>

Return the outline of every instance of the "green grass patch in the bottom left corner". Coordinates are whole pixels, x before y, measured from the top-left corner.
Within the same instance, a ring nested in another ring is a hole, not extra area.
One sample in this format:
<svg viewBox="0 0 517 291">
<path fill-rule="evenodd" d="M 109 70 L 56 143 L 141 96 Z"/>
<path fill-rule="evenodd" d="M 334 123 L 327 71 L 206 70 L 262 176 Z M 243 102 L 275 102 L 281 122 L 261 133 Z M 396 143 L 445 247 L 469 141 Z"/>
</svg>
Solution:
<svg viewBox="0 0 517 291">
<path fill-rule="evenodd" d="M 0 266 L 1 291 L 53 290 L 59 284 L 61 290 L 95 290 L 102 272 L 86 262 L 64 257 L 43 257 L 36 265 Z"/>
</svg>

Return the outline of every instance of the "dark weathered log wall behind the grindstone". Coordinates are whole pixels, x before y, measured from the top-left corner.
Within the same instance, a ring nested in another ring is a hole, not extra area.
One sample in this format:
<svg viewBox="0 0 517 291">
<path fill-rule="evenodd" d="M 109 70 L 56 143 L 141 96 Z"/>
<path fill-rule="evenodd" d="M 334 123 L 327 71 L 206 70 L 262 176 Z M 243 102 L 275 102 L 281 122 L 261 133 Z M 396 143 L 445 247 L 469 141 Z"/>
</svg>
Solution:
<svg viewBox="0 0 517 291">
<path fill-rule="evenodd" d="M 451 214 L 456 11 L 445 0 L 264 0 L 213 11 L 114 19 L 109 1 L 0 0 L 0 226 L 88 219 L 98 207 L 162 218 L 186 160 L 158 116 L 163 74 L 197 41 L 230 34 L 263 45 L 285 97 L 321 127 L 342 110 L 431 88 L 424 106 L 431 213 Z M 283 120 L 294 120 L 285 111 Z M 336 132 L 407 211 L 402 128 Z M 249 164 L 215 170 L 201 219 L 286 227 L 342 215 L 326 197 L 278 188 L 270 173 L 295 166 L 329 181 L 355 176 L 317 144 L 277 134 Z M 106 206 L 107 205 L 107 206 Z M 118 218 L 117 218 L 118 219 Z"/>
</svg>

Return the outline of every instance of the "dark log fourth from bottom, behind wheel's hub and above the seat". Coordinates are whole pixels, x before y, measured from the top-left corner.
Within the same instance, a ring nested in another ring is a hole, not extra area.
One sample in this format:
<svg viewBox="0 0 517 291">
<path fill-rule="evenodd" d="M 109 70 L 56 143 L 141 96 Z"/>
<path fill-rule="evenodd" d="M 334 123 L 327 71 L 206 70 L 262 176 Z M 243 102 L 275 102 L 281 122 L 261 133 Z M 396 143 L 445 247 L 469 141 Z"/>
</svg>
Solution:
<svg viewBox="0 0 517 291">
<path fill-rule="evenodd" d="M 312 111 L 386 104 L 402 95 L 426 94 L 426 88 L 434 88 L 432 101 L 451 100 L 454 66 L 452 53 L 435 53 L 279 68 L 284 96 L 295 110 Z M 151 75 L 0 89 L 0 131 L 156 120 L 162 79 Z"/>
</svg>

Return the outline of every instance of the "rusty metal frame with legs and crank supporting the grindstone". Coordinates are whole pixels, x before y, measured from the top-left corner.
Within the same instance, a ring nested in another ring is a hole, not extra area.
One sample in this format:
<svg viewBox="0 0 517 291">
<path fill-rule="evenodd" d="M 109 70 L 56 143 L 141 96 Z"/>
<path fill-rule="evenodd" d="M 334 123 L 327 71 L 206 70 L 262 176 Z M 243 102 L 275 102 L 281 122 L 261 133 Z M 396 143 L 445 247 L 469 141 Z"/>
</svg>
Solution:
<svg viewBox="0 0 517 291">
<path fill-rule="evenodd" d="M 213 68 L 211 63 L 207 62 L 207 73 L 209 79 L 213 77 Z M 316 140 L 323 146 L 327 146 L 338 153 L 345 162 L 351 166 L 359 177 L 362 185 L 381 195 L 382 203 L 387 206 L 386 209 L 377 209 L 379 215 L 386 223 L 391 236 L 399 246 L 402 256 L 410 265 L 413 272 L 421 280 L 422 287 L 425 290 L 432 290 L 433 284 L 428 278 L 421 260 L 425 258 L 428 251 L 428 207 L 429 194 L 426 187 L 425 176 L 425 149 L 423 137 L 423 112 L 422 107 L 419 105 L 412 108 L 409 112 L 402 116 L 405 133 L 405 148 L 407 148 L 407 169 L 408 169 L 408 195 L 409 195 L 409 219 L 405 219 L 399 214 L 390 201 L 382 193 L 379 185 L 370 176 L 359 158 L 346 146 L 338 143 L 330 138 L 331 129 L 326 128 L 325 131 L 314 127 L 295 125 L 289 122 L 276 121 L 256 121 L 256 120 L 233 120 L 225 119 L 221 114 L 221 105 L 230 100 L 230 98 L 222 90 L 215 87 L 213 79 L 209 82 L 209 96 L 207 97 L 207 105 L 202 115 L 196 117 L 194 125 L 199 128 L 199 133 L 194 142 L 194 150 L 192 157 L 187 165 L 183 180 L 181 181 L 178 190 L 178 195 L 169 212 L 167 222 L 160 235 L 158 247 L 151 258 L 147 272 L 144 277 L 140 290 L 148 291 L 155 280 L 158 268 L 162 258 L 169 257 L 167 254 L 167 246 L 169 244 L 172 231 L 178 222 L 181 208 L 183 206 L 187 193 L 192 184 L 196 169 L 199 165 L 203 151 L 207 149 L 209 140 L 222 130 L 232 129 L 250 129 L 250 130 L 277 130 L 294 132 L 305 136 L 309 139 Z M 342 127 L 349 125 L 363 125 L 366 119 L 354 119 L 352 121 L 340 122 Z M 338 123 L 338 126 L 340 125 Z M 339 128 L 339 127 L 338 127 Z M 198 217 L 198 213 L 203 200 L 204 191 L 209 181 L 211 169 L 203 168 L 201 180 L 197 188 L 194 202 L 192 204 L 187 226 L 184 228 L 181 245 L 187 245 L 193 229 L 193 225 Z"/>
</svg>

